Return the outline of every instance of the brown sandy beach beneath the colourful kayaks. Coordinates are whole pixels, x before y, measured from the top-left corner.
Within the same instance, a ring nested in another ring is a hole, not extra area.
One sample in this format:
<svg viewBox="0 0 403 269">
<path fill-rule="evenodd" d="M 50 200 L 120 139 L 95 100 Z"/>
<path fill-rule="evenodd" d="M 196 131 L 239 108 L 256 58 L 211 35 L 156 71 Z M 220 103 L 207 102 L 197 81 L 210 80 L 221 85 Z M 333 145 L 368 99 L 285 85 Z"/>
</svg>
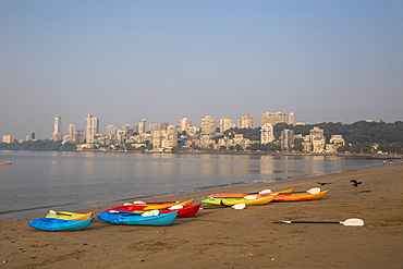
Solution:
<svg viewBox="0 0 403 269">
<path fill-rule="evenodd" d="M 353 179 L 363 183 L 355 187 Z M 45 232 L 27 225 L 32 218 L 2 221 L 0 268 L 402 268 L 402 180 L 403 164 L 394 164 L 161 197 L 198 203 L 211 193 L 306 191 L 317 182 L 332 183 L 321 186 L 329 193 L 320 200 L 206 208 L 170 227 L 115 225 L 95 218 L 83 231 Z M 272 223 L 350 218 L 365 225 Z"/>
</svg>

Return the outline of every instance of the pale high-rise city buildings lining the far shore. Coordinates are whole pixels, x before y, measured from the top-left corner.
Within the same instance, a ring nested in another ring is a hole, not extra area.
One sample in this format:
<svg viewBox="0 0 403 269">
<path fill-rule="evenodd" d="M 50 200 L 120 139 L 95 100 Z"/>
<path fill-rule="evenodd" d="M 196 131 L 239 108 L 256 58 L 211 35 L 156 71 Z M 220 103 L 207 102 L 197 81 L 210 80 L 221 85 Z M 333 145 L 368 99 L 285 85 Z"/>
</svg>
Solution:
<svg viewBox="0 0 403 269">
<path fill-rule="evenodd" d="M 278 123 L 294 125 L 295 115 L 293 112 L 285 114 L 282 112 L 265 112 L 260 118 L 260 138 L 251 140 L 243 134 L 225 133 L 235 126 L 239 130 L 255 129 L 255 121 L 252 115 L 240 117 L 236 125 L 231 119 L 213 115 L 202 117 L 202 125 L 192 126 L 192 121 L 183 118 L 179 125 L 169 123 L 151 123 L 147 129 L 146 119 L 142 119 L 137 124 L 124 124 L 120 129 L 108 125 L 106 134 L 99 132 L 99 120 L 93 114 L 86 118 L 85 130 L 77 130 L 74 124 L 68 125 L 68 134 L 62 134 L 61 117 L 56 115 L 53 120 L 53 133 L 51 140 L 62 143 L 73 143 L 76 150 L 99 149 L 99 150 L 127 150 L 127 148 L 143 148 L 148 151 L 173 151 L 175 148 L 197 150 L 247 150 L 251 145 L 278 145 L 282 150 L 293 150 L 296 138 L 302 139 L 304 152 L 337 152 L 338 147 L 344 146 L 345 142 L 341 135 L 333 135 L 332 139 L 326 144 L 323 131 L 314 127 L 309 135 L 295 135 L 293 130 L 281 130 L 280 137 L 276 139 L 274 126 Z M 304 125 L 303 122 L 296 123 Z M 35 139 L 35 133 L 30 133 L 26 139 Z M 3 135 L 3 143 L 12 143 L 11 135 Z"/>
</svg>

